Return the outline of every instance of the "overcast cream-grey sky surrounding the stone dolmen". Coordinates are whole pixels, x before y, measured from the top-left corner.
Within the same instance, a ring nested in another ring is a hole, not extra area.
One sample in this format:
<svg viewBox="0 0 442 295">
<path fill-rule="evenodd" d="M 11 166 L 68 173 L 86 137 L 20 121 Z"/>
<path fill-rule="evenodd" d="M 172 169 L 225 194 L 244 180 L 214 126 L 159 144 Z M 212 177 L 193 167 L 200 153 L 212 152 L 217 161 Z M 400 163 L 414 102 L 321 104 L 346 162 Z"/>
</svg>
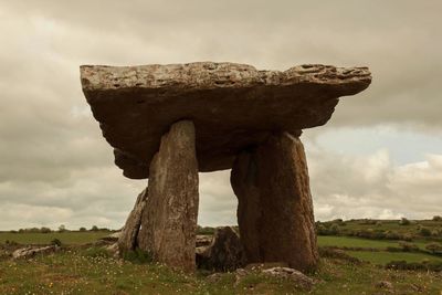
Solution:
<svg viewBox="0 0 442 295">
<path fill-rule="evenodd" d="M 442 2 L 0 0 L 0 230 L 118 229 L 130 180 L 92 117 L 82 64 L 369 66 L 305 129 L 315 219 L 442 213 Z M 201 225 L 235 224 L 230 171 L 200 173 Z"/>
</svg>

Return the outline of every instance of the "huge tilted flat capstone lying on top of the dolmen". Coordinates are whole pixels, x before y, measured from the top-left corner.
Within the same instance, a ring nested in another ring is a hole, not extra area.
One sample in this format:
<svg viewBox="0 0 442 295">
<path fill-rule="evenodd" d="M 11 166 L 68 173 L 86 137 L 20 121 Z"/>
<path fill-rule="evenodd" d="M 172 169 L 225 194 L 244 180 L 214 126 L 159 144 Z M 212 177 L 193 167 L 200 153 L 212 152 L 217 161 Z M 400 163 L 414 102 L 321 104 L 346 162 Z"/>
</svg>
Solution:
<svg viewBox="0 0 442 295">
<path fill-rule="evenodd" d="M 273 133 L 324 125 L 338 97 L 364 91 L 367 67 L 299 65 L 285 72 L 234 63 L 81 66 L 83 92 L 128 178 L 147 178 L 160 138 L 191 119 L 200 171 L 232 167 Z"/>
</svg>

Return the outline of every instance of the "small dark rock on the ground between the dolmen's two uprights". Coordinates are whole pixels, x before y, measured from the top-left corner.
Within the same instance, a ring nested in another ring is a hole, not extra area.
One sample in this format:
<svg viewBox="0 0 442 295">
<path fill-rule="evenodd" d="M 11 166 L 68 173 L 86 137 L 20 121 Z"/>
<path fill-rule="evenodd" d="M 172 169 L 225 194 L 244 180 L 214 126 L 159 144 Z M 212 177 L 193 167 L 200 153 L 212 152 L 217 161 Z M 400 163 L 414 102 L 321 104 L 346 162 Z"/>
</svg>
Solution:
<svg viewBox="0 0 442 295">
<path fill-rule="evenodd" d="M 230 226 L 218 228 L 210 246 L 197 247 L 197 264 L 211 271 L 234 271 L 243 266 L 240 236 Z"/>
</svg>

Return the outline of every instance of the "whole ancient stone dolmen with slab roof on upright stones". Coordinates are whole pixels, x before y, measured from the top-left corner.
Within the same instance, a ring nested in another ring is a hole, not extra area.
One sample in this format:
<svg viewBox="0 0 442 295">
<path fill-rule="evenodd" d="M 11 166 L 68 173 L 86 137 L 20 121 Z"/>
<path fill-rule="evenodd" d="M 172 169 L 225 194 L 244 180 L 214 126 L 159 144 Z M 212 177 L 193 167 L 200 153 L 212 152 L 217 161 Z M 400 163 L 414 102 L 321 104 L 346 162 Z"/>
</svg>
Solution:
<svg viewBox="0 0 442 295">
<path fill-rule="evenodd" d="M 367 67 L 235 63 L 81 66 L 87 103 L 115 164 L 147 179 L 119 238 L 155 261 L 196 268 L 198 172 L 231 169 L 248 263 L 318 262 L 302 130 L 326 124 L 339 97 L 369 86 Z"/>
</svg>

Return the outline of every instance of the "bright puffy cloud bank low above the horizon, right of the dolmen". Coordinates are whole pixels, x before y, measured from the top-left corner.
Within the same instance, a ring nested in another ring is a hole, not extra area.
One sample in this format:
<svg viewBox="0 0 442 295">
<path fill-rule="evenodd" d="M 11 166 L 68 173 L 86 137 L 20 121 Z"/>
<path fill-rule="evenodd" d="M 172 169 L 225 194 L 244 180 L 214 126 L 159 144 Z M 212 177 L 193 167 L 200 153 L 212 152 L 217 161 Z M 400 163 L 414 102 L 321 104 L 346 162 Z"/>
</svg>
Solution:
<svg viewBox="0 0 442 295">
<path fill-rule="evenodd" d="M 348 156 L 316 146 L 307 155 L 318 220 L 424 219 L 442 211 L 442 155 L 399 166 L 386 149 Z"/>
</svg>

